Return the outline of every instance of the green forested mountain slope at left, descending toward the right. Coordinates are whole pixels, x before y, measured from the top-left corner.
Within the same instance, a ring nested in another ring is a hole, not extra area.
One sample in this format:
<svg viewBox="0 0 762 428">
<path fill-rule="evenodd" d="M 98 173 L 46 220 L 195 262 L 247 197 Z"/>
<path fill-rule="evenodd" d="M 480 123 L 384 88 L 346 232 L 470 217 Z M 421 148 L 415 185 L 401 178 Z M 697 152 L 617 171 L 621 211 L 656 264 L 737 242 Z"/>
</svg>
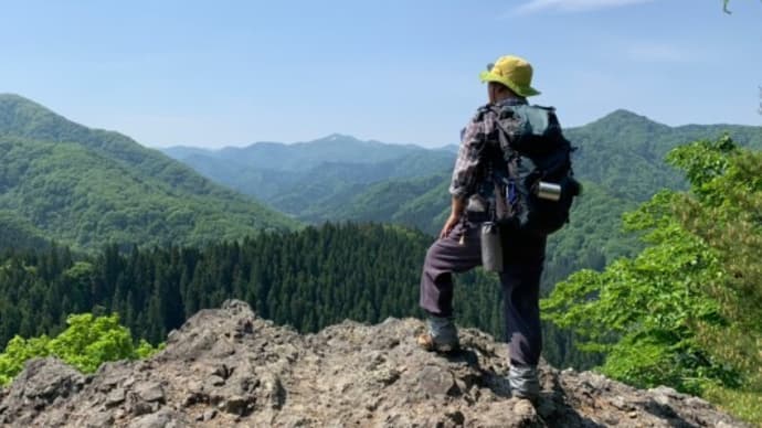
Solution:
<svg viewBox="0 0 762 428">
<path fill-rule="evenodd" d="M 134 140 L 0 95 L 0 247 L 202 243 L 296 222 Z"/>
</svg>

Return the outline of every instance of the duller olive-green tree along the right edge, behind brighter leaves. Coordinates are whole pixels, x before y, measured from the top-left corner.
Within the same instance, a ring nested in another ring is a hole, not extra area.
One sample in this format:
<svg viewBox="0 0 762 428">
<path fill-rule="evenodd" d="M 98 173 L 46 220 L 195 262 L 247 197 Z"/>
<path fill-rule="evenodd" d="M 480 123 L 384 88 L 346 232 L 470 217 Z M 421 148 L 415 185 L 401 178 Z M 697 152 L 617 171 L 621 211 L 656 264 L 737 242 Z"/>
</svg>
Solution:
<svg viewBox="0 0 762 428">
<path fill-rule="evenodd" d="M 689 151 L 708 153 L 696 160 Z M 701 182 L 696 197 L 682 196 L 675 213 L 686 229 L 716 249 L 723 268 L 705 290 L 719 303 L 727 324 L 698 324 L 701 343 L 745 373 L 748 385 L 762 394 L 762 153 L 735 149 L 727 139 L 699 141 L 676 151 L 670 161 L 701 168 L 717 152 L 726 153 L 724 171 Z"/>
</svg>

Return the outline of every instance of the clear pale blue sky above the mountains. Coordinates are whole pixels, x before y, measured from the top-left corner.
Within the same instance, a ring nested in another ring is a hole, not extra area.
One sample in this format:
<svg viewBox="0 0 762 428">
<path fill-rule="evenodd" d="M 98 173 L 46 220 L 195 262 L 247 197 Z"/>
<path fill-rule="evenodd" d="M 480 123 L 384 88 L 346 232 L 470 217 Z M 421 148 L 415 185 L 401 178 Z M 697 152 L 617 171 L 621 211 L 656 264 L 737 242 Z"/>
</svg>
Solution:
<svg viewBox="0 0 762 428">
<path fill-rule="evenodd" d="M 502 54 L 567 127 L 762 125 L 762 2 L 4 1 L 0 93 L 150 147 L 456 143 Z"/>
</svg>

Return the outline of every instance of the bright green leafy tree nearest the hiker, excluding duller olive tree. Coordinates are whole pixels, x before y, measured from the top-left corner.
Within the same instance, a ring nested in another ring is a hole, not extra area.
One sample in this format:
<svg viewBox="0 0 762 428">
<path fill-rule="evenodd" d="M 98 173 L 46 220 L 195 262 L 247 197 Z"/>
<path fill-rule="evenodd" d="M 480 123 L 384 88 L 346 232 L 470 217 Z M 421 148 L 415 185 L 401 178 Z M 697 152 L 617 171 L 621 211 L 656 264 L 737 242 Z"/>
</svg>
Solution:
<svg viewBox="0 0 762 428">
<path fill-rule="evenodd" d="M 602 370 L 612 377 L 691 393 L 703 374 L 733 382 L 732 373 L 697 346 L 689 329 L 694 318 L 717 314 L 717 306 L 697 290 L 717 275 L 717 259 L 675 225 L 663 225 L 658 235 L 649 236 L 654 245 L 634 260 L 572 275 L 543 301 L 543 311 L 585 338 L 583 350 L 607 352 Z"/>
</svg>

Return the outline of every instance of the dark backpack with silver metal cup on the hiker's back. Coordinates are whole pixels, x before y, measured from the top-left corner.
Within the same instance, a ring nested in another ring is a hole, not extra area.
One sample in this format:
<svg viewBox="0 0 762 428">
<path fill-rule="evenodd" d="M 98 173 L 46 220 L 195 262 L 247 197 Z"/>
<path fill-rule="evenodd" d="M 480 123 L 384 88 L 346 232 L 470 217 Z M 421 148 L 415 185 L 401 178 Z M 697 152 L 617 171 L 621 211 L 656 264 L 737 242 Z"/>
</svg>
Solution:
<svg viewBox="0 0 762 428">
<path fill-rule="evenodd" d="M 491 216 L 500 226 L 550 235 L 569 223 L 581 184 L 574 180 L 571 152 L 555 110 L 507 105 L 498 114 L 499 150 L 488 159 L 495 185 Z"/>
</svg>

